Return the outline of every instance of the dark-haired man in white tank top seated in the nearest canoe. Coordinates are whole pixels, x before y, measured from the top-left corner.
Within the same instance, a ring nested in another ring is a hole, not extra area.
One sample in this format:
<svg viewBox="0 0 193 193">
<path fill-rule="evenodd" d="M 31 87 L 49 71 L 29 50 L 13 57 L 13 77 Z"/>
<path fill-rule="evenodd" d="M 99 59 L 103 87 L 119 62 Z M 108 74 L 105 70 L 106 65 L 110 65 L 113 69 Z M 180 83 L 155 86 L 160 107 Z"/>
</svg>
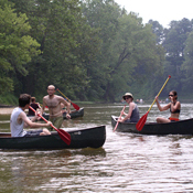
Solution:
<svg viewBox="0 0 193 193">
<path fill-rule="evenodd" d="M 10 119 L 10 128 L 12 137 L 51 135 L 51 132 L 47 129 L 39 129 L 32 131 L 23 130 L 23 127 L 40 128 L 40 127 L 49 127 L 52 124 L 51 121 L 49 121 L 47 124 L 33 122 L 37 118 L 36 116 L 33 117 L 31 120 L 26 117 L 24 110 L 29 109 L 30 100 L 31 100 L 30 95 L 28 94 L 20 95 L 19 107 L 13 109 Z"/>
</svg>

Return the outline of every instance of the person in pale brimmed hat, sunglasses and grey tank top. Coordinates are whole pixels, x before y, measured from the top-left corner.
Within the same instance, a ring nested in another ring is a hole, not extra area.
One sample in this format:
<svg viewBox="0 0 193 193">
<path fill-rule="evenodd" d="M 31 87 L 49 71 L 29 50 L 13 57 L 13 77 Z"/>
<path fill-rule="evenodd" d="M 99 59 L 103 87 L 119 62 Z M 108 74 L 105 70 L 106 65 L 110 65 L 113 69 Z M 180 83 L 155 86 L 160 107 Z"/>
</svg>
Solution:
<svg viewBox="0 0 193 193">
<path fill-rule="evenodd" d="M 129 111 L 126 114 L 124 111 L 125 118 L 120 118 L 120 122 L 138 122 L 139 120 L 139 109 L 138 106 L 133 103 L 133 97 L 131 93 L 126 93 L 122 98 L 128 103 L 129 105 Z"/>
</svg>

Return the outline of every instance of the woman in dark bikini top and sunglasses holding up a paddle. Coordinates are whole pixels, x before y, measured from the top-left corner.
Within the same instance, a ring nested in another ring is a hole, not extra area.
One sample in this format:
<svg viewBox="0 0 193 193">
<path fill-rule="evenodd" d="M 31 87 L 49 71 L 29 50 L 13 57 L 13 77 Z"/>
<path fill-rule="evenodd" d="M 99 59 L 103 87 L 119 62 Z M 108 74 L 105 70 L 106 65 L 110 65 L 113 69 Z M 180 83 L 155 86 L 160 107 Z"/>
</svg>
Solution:
<svg viewBox="0 0 193 193">
<path fill-rule="evenodd" d="M 181 104 L 180 101 L 178 101 L 178 94 L 175 90 L 172 90 L 169 93 L 169 99 L 171 100 L 171 103 L 169 103 L 168 105 L 165 105 L 164 107 L 160 106 L 158 96 L 156 97 L 156 101 L 157 101 L 157 106 L 159 108 L 160 111 L 163 110 L 168 110 L 170 109 L 171 116 L 167 119 L 167 118 L 162 118 L 162 117 L 158 117 L 157 118 L 157 122 L 171 122 L 171 121 L 178 121 L 179 120 L 179 116 L 180 116 L 180 110 L 181 110 Z"/>
</svg>

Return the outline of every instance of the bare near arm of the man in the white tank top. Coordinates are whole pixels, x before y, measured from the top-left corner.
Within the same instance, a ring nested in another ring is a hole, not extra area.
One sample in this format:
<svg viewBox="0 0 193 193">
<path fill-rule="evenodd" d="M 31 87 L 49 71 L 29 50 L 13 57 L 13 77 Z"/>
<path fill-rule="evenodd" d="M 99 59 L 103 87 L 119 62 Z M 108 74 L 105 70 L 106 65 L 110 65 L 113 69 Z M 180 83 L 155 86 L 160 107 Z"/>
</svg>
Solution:
<svg viewBox="0 0 193 193">
<path fill-rule="evenodd" d="M 45 124 L 41 124 L 41 122 L 32 122 L 24 112 L 21 112 L 19 115 L 19 118 L 21 118 L 24 121 L 24 127 L 30 127 L 30 128 L 39 128 L 39 127 L 49 127 L 52 125 L 51 121 L 47 121 Z"/>
</svg>

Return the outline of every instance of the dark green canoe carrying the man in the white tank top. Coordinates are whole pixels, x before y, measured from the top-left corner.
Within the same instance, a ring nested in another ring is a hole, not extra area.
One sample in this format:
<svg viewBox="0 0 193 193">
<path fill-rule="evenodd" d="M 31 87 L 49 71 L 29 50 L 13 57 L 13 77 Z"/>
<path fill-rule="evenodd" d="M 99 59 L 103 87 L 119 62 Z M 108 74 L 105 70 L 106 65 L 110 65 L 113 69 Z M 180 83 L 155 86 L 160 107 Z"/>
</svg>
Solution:
<svg viewBox="0 0 193 193">
<path fill-rule="evenodd" d="M 106 140 L 106 127 L 99 126 L 87 129 L 68 131 L 71 144 L 67 146 L 53 131 L 51 136 L 11 138 L 10 132 L 0 132 L 0 149 L 79 149 L 100 148 Z"/>
</svg>

